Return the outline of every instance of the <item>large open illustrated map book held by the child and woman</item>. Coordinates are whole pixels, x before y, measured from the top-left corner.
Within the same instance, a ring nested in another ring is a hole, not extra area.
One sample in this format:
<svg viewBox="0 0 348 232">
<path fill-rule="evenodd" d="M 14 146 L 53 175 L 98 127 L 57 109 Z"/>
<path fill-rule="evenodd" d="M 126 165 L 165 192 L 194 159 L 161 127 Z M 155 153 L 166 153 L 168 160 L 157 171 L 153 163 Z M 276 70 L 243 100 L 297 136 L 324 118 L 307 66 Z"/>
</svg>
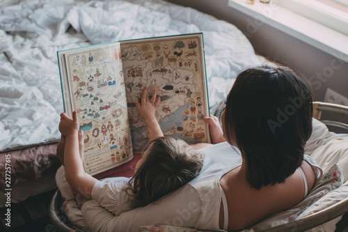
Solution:
<svg viewBox="0 0 348 232">
<path fill-rule="evenodd" d="M 202 33 L 111 42 L 59 51 L 64 111 L 84 130 L 84 169 L 91 175 L 129 161 L 148 144 L 134 102 L 157 89 L 156 118 L 165 136 L 210 142 Z"/>
</svg>

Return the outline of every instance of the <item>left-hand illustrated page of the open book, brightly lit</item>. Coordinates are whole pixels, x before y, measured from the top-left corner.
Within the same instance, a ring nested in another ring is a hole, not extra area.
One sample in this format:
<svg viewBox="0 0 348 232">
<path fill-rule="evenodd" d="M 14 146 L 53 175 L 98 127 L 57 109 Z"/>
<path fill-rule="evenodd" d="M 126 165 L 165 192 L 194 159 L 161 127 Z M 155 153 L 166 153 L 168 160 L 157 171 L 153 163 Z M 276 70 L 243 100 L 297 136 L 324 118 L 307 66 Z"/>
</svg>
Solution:
<svg viewBox="0 0 348 232">
<path fill-rule="evenodd" d="M 77 111 L 84 130 L 84 169 L 91 175 L 133 157 L 120 58 L 118 42 L 65 52 L 70 112 Z"/>
</svg>

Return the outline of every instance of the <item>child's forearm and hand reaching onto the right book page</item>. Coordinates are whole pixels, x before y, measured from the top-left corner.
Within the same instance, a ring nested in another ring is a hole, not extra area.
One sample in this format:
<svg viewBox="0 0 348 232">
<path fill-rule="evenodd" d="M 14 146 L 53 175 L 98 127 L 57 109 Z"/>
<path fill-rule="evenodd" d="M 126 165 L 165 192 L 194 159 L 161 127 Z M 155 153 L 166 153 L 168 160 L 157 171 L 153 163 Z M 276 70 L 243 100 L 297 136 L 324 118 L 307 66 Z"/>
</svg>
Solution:
<svg viewBox="0 0 348 232">
<path fill-rule="evenodd" d="M 158 137 L 163 137 L 164 134 L 155 117 L 156 107 L 159 104 L 159 97 L 156 98 L 156 89 L 153 91 L 152 98 L 148 98 L 148 87 L 144 88 L 141 104 L 136 101 L 135 105 L 139 114 L 143 116 L 148 126 L 149 139 L 152 141 Z"/>
</svg>

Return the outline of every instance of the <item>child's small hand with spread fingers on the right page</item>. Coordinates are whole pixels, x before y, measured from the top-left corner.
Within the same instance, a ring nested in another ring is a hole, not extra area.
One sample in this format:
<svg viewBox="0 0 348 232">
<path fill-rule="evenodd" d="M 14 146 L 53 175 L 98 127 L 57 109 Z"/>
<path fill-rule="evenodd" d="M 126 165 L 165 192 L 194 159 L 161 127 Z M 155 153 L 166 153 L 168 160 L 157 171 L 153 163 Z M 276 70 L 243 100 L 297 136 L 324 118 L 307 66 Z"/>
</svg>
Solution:
<svg viewBox="0 0 348 232">
<path fill-rule="evenodd" d="M 138 101 L 135 101 L 136 108 L 139 111 L 139 114 L 143 116 L 145 121 L 155 118 L 156 107 L 159 104 L 159 97 L 156 99 L 156 89 L 154 89 L 152 98 L 148 97 L 148 87 L 144 88 L 143 95 L 141 96 L 141 104 Z M 155 118 L 156 119 L 156 118 Z"/>
</svg>

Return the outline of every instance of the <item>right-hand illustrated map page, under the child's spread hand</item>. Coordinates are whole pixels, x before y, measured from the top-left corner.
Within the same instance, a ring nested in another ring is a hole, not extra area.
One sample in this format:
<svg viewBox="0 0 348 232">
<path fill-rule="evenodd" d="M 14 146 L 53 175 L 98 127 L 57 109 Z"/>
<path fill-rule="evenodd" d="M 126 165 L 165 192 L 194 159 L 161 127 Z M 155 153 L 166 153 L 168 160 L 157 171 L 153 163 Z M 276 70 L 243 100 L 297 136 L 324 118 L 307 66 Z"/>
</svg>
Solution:
<svg viewBox="0 0 348 232">
<path fill-rule="evenodd" d="M 148 143 L 145 121 L 134 102 L 141 102 L 143 88 L 153 89 L 161 100 L 156 111 L 166 136 L 189 144 L 210 142 L 203 116 L 209 116 L 202 34 L 166 36 L 121 42 L 129 123 L 134 152 Z"/>
</svg>

